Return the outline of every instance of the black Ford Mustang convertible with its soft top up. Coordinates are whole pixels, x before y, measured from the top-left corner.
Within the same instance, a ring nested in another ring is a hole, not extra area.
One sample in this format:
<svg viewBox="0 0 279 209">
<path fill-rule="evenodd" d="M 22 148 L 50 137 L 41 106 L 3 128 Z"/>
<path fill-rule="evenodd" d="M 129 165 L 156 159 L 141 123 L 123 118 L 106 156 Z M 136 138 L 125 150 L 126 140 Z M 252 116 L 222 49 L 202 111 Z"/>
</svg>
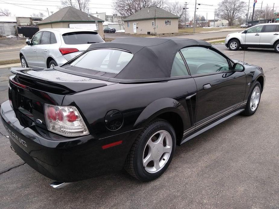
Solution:
<svg viewBox="0 0 279 209">
<path fill-rule="evenodd" d="M 11 72 L 1 105 L 11 145 L 62 183 L 123 167 L 155 179 L 176 145 L 236 114 L 254 114 L 265 84 L 261 67 L 193 39 L 116 39 L 61 67 Z"/>
</svg>

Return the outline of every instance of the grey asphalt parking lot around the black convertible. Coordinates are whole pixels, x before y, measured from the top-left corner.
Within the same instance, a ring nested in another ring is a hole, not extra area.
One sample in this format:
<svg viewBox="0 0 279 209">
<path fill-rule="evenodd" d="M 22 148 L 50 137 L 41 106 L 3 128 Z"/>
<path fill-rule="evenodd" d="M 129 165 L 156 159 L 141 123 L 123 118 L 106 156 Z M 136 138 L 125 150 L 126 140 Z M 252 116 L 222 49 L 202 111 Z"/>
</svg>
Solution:
<svg viewBox="0 0 279 209">
<path fill-rule="evenodd" d="M 243 61 L 243 50 L 229 51 Z M 279 208 L 279 54 L 248 49 L 245 61 L 263 67 L 265 89 L 257 112 L 238 115 L 176 147 L 170 167 L 152 182 L 125 171 L 49 186 L 11 150 L 0 124 L 0 208 Z M 0 102 L 7 100 L 0 69 Z"/>
</svg>

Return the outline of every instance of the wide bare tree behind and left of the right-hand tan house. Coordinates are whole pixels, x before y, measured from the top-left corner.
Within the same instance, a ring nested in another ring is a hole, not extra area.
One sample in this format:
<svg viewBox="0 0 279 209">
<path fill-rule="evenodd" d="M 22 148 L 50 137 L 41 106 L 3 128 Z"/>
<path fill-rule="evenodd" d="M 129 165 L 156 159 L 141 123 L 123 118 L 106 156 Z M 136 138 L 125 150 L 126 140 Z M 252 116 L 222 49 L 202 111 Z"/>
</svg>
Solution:
<svg viewBox="0 0 279 209">
<path fill-rule="evenodd" d="M 116 0 L 113 8 L 123 18 L 126 18 L 145 7 L 157 6 L 163 8 L 165 0 Z"/>
</svg>

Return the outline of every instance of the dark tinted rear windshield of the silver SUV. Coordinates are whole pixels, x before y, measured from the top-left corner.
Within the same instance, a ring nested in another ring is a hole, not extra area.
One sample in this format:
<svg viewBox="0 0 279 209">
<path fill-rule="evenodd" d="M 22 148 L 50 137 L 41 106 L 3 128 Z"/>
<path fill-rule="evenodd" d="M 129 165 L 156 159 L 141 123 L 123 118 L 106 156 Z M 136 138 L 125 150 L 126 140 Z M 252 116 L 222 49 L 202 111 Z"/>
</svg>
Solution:
<svg viewBox="0 0 279 209">
<path fill-rule="evenodd" d="M 90 32 L 90 31 L 64 33 L 62 37 L 65 44 L 70 44 L 70 45 L 104 42 L 104 40 L 97 32 Z"/>
</svg>

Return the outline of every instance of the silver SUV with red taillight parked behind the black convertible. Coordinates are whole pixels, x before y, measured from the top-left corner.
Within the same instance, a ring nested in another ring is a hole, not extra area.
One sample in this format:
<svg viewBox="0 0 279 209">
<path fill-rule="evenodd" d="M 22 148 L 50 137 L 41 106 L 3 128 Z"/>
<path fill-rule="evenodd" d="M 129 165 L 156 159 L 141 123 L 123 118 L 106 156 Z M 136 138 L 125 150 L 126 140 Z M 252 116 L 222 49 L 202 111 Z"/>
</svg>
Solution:
<svg viewBox="0 0 279 209">
<path fill-rule="evenodd" d="M 94 30 L 47 28 L 38 31 L 20 50 L 22 67 L 53 68 L 81 54 L 91 44 L 104 42 Z"/>
</svg>

